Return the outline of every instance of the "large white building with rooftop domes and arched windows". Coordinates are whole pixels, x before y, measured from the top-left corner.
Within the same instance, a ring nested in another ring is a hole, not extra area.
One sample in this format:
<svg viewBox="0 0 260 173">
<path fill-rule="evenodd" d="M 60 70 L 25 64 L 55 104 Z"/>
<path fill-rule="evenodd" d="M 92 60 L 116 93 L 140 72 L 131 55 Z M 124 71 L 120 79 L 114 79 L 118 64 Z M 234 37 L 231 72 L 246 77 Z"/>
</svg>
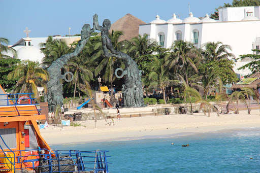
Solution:
<svg viewBox="0 0 260 173">
<path fill-rule="evenodd" d="M 232 47 L 236 58 L 252 53 L 252 49 L 259 49 L 260 6 L 227 7 L 218 11 L 219 20 L 210 19 L 207 14 L 200 20 L 190 13 L 183 21 L 176 18 L 175 14 L 172 19 L 165 21 L 157 15 L 155 20 L 139 26 L 139 34 L 148 33 L 164 48 L 170 48 L 177 40 L 192 42 L 197 48 L 206 42 L 220 41 Z M 244 64 L 246 62 L 237 62 L 234 71 L 242 75 L 249 74 L 249 70 L 237 71 Z"/>
</svg>

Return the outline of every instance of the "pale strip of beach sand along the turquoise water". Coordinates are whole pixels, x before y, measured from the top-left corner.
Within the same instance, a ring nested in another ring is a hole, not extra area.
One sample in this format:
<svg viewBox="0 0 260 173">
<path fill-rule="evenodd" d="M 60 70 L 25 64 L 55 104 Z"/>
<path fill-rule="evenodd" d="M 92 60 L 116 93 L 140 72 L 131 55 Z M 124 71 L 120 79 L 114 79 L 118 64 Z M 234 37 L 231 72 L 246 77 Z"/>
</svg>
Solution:
<svg viewBox="0 0 260 173">
<path fill-rule="evenodd" d="M 98 120 L 94 128 L 94 121 L 79 121 L 86 127 L 64 126 L 63 129 L 49 126 L 41 129 L 41 135 L 49 145 L 113 141 L 127 139 L 143 139 L 147 136 L 164 136 L 177 133 L 201 133 L 213 132 L 224 129 L 260 127 L 260 112 L 252 110 L 251 115 L 247 111 L 240 111 L 240 114 L 211 113 L 205 116 L 203 113 L 194 115 L 163 115 Z M 107 124 L 110 123 L 111 125 Z M 107 125 L 106 125 L 107 124 Z"/>
</svg>

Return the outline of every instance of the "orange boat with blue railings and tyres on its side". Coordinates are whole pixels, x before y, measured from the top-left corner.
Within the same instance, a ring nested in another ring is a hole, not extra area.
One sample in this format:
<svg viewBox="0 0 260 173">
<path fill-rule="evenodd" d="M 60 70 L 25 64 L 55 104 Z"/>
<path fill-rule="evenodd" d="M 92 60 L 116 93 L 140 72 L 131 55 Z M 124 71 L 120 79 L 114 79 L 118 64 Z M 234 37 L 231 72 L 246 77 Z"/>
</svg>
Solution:
<svg viewBox="0 0 260 173">
<path fill-rule="evenodd" d="M 37 124 L 45 115 L 32 94 L 7 94 L 0 86 L 0 171 L 108 173 L 108 151 L 50 148 Z"/>
</svg>

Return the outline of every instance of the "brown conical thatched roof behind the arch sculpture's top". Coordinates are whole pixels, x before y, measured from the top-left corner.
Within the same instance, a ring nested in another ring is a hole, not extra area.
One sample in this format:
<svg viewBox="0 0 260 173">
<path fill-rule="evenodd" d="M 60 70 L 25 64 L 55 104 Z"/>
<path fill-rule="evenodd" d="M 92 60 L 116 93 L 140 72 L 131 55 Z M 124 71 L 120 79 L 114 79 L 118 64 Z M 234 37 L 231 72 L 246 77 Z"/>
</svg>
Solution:
<svg viewBox="0 0 260 173">
<path fill-rule="evenodd" d="M 111 25 L 109 32 L 111 33 L 112 30 L 123 31 L 123 36 L 120 37 L 119 42 L 122 40 L 128 41 L 138 36 L 140 24 L 145 24 L 145 22 L 128 13 L 115 21 L 115 23 Z"/>
</svg>

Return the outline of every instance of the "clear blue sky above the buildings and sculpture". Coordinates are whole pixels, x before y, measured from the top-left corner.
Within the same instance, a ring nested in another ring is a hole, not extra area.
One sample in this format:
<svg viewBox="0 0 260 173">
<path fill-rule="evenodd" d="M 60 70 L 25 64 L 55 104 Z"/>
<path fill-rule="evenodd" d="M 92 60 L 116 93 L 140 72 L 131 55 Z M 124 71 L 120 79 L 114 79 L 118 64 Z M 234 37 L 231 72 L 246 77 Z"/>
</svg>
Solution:
<svg viewBox="0 0 260 173">
<path fill-rule="evenodd" d="M 84 23 L 92 26 L 92 16 L 97 13 L 99 22 L 110 19 L 111 23 L 127 13 L 146 23 L 155 19 L 169 20 L 173 13 L 181 19 L 188 17 L 188 3 L 194 17 L 209 15 L 215 8 L 232 0 L 2 0 L 0 1 L 0 37 L 9 39 L 10 44 L 26 37 L 23 32 L 28 27 L 29 37 L 48 37 L 56 34 L 65 36 L 80 33 Z"/>
</svg>

